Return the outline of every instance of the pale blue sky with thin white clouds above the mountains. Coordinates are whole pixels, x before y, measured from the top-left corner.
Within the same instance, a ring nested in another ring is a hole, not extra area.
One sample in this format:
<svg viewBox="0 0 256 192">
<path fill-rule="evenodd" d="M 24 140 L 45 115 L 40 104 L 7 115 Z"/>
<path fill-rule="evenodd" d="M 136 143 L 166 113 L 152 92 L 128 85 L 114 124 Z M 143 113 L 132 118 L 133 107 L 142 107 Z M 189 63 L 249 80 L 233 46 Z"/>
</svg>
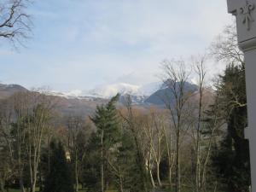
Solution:
<svg viewBox="0 0 256 192">
<path fill-rule="evenodd" d="M 224 0 L 35 0 L 27 12 L 26 47 L 0 39 L 0 82 L 60 91 L 159 81 L 161 61 L 204 54 L 232 22 Z"/>
</svg>

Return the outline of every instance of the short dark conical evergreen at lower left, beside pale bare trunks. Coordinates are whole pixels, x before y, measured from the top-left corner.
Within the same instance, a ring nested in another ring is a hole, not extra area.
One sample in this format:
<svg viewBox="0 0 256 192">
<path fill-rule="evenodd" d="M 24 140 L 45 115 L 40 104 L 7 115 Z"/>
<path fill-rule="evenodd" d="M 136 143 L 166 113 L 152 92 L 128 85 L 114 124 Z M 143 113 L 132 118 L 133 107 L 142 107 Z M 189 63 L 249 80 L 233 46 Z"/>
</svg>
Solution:
<svg viewBox="0 0 256 192">
<path fill-rule="evenodd" d="M 73 182 L 62 144 L 50 143 L 50 171 L 46 178 L 44 192 L 73 192 Z"/>
</svg>

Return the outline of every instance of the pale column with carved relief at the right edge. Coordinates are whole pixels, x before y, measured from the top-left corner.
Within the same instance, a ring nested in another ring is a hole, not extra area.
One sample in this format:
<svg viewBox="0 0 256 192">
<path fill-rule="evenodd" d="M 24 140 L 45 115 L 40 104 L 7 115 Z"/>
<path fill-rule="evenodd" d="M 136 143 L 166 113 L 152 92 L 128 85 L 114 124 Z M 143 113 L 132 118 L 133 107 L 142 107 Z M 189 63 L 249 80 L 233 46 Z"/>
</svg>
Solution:
<svg viewBox="0 0 256 192">
<path fill-rule="evenodd" d="M 228 11 L 236 16 L 237 38 L 246 63 L 248 127 L 252 191 L 256 192 L 256 0 L 227 0 Z"/>
</svg>

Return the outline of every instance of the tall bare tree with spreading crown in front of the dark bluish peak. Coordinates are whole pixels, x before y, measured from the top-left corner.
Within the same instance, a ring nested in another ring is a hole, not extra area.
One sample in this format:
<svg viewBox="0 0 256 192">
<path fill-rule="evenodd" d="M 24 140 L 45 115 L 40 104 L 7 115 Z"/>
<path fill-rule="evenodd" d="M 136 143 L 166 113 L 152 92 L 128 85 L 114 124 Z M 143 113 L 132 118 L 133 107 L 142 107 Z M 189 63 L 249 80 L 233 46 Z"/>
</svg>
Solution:
<svg viewBox="0 0 256 192">
<path fill-rule="evenodd" d="M 182 132 L 185 128 L 186 104 L 189 97 L 193 94 L 186 88 L 189 73 L 186 71 L 184 61 L 164 61 L 162 64 L 164 72 L 163 82 L 166 85 L 166 108 L 171 114 L 172 124 L 176 136 L 176 160 L 175 160 L 175 181 L 176 192 L 181 191 L 181 174 L 180 174 L 180 144 L 182 141 Z"/>
</svg>

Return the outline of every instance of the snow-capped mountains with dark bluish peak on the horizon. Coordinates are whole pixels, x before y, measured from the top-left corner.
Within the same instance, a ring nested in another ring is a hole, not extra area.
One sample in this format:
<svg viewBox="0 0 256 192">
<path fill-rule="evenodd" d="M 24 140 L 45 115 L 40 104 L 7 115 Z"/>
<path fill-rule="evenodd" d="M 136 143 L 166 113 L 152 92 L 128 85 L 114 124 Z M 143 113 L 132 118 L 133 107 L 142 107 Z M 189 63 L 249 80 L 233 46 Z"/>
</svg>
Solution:
<svg viewBox="0 0 256 192">
<path fill-rule="evenodd" d="M 197 86 L 195 84 L 190 84 L 189 82 L 187 82 L 185 85 L 186 90 L 195 91 L 197 89 Z M 100 86 L 97 86 L 95 89 L 89 91 L 53 91 L 52 93 L 50 93 L 50 95 L 61 96 L 67 99 L 83 99 L 86 101 L 93 101 L 97 98 L 108 100 L 109 98 L 115 96 L 118 93 L 120 94 L 119 102 L 124 103 L 126 96 L 130 95 L 132 103 L 139 105 L 163 105 L 163 97 L 165 97 L 166 94 L 168 96 L 171 94 L 169 88 L 166 86 L 165 83 L 155 82 L 142 86 L 125 83 L 102 84 Z"/>
</svg>

